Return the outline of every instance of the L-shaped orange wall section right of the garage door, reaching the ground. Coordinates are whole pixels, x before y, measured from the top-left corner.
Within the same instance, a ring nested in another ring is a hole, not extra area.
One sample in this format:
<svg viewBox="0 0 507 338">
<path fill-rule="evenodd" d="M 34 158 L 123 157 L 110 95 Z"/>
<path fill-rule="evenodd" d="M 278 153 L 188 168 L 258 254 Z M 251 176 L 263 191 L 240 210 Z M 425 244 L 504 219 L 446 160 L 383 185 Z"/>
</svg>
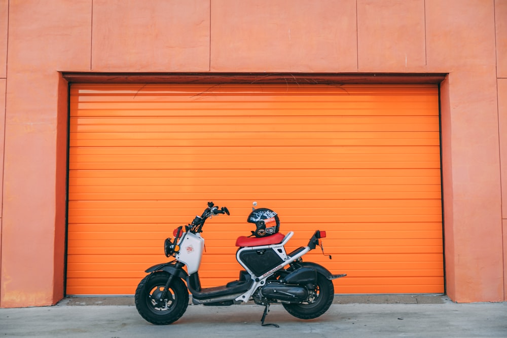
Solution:
<svg viewBox="0 0 507 338">
<path fill-rule="evenodd" d="M 427 68 L 449 72 L 441 86 L 446 290 L 460 303 L 500 302 L 506 299 L 507 243 L 501 225 L 494 2 L 456 6 L 427 0 L 425 18 Z M 478 22 L 484 24 L 475 29 Z"/>
</svg>

